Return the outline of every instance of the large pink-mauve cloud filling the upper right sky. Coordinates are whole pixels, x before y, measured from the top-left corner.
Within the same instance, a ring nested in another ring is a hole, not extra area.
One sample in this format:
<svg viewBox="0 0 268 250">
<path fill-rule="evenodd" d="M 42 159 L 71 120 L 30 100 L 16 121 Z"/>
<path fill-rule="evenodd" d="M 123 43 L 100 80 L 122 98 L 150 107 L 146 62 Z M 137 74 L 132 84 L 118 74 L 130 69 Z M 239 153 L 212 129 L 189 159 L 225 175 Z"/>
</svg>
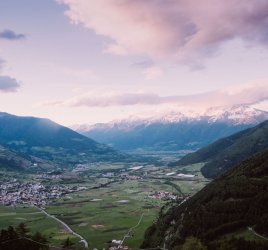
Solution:
<svg viewBox="0 0 268 250">
<path fill-rule="evenodd" d="M 110 39 L 105 52 L 191 60 L 223 42 L 266 46 L 265 0 L 57 0 L 72 23 Z"/>
</svg>

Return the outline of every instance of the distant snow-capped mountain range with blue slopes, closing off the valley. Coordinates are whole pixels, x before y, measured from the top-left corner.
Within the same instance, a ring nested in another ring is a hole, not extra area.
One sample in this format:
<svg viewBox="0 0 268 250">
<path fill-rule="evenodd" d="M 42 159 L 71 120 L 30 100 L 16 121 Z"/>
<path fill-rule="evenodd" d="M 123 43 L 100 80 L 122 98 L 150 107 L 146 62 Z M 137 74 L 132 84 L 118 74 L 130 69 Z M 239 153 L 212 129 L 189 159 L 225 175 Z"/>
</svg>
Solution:
<svg viewBox="0 0 268 250">
<path fill-rule="evenodd" d="M 120 150 L 198 149 L 268 119 L 268 112 L 247 105 L 214 107 L 204 112 L 170 112 L 156 117 L 130 117 L 75 129 Z"/>
</svg>

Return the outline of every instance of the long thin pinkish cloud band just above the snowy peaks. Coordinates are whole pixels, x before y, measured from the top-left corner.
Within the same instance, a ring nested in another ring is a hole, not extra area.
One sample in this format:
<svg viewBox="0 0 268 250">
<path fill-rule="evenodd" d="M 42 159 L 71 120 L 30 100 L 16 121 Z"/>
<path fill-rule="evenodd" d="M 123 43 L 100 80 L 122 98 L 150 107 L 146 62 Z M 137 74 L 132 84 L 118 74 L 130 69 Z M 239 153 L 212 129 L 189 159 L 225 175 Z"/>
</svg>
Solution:
<svg viewBox="0 0 268 250">
<path fill-rule="evenodd" d="M 228 106 L 255 104 L 268 100 L 268 82 L 228 88 L 213 92 L 185 95 L 160 96 L 154 93 L 93 93 L 88 92 L 65 101 L 48 102 L 48 105 L 68 107 L 111 107 L 134 105 L 176 105 L 181 107 Z"/>
</svg>

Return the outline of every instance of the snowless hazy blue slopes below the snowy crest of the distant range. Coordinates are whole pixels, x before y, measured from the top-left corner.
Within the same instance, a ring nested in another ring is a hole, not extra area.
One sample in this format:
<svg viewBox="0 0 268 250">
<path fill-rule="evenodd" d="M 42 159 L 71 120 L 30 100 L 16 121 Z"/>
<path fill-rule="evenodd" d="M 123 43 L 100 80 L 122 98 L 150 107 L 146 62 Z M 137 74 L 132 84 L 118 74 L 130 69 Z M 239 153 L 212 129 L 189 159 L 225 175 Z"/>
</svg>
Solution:
<svg viewBox="0 0 268 250">
<path fill-rule="evenodd" d="M 198 149 L 211 141 L 248 128 L 248 125 L 230 126 L 207 121 L 141 124 L 131 130 L 113 127 L 84 133 L 120 150 L 180 150 Z"/>
</svg>

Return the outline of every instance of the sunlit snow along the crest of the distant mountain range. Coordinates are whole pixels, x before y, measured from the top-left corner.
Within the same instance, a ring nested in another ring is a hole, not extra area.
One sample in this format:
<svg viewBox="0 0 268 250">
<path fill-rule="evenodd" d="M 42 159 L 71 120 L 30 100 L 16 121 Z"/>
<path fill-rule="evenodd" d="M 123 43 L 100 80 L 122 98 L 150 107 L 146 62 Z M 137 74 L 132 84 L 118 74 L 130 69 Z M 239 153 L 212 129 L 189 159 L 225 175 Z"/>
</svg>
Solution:
<svg viewBox="0 0 268 250">
<path fill-rule="evenodd" d="M 262 111 L 247 105 L 235 105 L 229 107 L 211 107 L 203 112 L 195 111 L 172 111 L 169 113 L 152 116 L 137 117 L 131 116 L 123 120 L 113 120 L 109 123 L 97 123 L 95 125 L 76 125 L 72 128 L 80 131 L 90 131 L 93 129 L 109 130 L 118 128 L 120 130 L 131 130 L 137 126 L 149 126 L 153 123 L 178 123 L 206 121 L 208 123 L 224 122 L 232 125 L 255 125 L 268 119 L 268 112 Z"/>
</svg>

